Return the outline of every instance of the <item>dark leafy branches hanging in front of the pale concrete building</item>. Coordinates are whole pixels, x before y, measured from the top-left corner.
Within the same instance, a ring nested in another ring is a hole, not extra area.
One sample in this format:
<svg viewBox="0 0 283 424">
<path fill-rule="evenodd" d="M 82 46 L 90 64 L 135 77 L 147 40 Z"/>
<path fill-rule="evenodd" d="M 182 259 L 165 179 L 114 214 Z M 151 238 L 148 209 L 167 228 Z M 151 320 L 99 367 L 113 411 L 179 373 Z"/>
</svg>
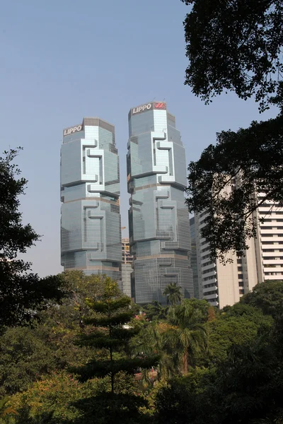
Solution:
<svg viewBox="0 0 283 424">
<path fill-rule="evenodd" d="M 190 163 L 186 203 L 190 212 L 210 211 L 202 236 L 213 258 L 226 261 L 230 250 L 243 256 L 246 240 L 255 237 L 258 229 L 253 212 L 267 201 L 282 204 L 282 184 L 278 184 L 283 177 L 282 128 L 283 114 L 279 114 L 253 122 L 248 129 L 222 131 L 216 145 Z M 255 195 L 255 186 L 264 196 Z"/>
</svg>

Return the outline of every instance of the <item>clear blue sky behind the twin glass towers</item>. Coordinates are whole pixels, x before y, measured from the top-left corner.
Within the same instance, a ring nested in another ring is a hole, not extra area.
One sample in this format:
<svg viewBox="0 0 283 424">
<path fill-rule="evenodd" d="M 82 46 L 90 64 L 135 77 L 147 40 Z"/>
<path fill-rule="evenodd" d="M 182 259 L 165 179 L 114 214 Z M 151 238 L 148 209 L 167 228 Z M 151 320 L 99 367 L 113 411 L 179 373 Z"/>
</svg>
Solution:
<svg viewBox="0 0 283 424">
<path fill-rule="evenodd" d="M 1 151 L 24 148 L 18 158 L 28 179 L 23 220 L 43 235 L 25 259 L 40 276 L 62 271 L 59 152 L 64 127 L 83 116 L 115 124 L 122 225 L 128 226 L 130 107 L 165 98 L 181 131 L 187 163 L 215 142 L 216 131 L 259 119 L 253 101 L 230 94 L 205 106 L 184 86 L 187 11 L 180 0 L 1 2 Z M 272 112 L 265 113 L 269 116 Z"/>
</svg>

